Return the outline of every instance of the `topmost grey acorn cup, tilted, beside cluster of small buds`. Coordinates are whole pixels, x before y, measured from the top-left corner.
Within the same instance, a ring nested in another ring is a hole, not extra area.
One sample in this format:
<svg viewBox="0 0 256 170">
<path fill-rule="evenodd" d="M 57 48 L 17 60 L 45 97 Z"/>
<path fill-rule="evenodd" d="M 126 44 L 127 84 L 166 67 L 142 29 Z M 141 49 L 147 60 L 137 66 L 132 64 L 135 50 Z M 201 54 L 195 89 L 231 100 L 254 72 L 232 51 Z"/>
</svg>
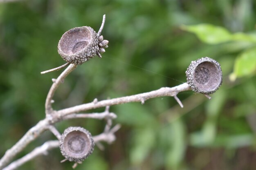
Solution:
<svg viewBox="0 0 256 170">
<path fill-rule="evenodd" d="M 75 27 L 66 31 L 58 42 L 58 53 L 72 64 L 83 64 L 99 51 L 97 33 L 90 26 Z"/>
</svg>

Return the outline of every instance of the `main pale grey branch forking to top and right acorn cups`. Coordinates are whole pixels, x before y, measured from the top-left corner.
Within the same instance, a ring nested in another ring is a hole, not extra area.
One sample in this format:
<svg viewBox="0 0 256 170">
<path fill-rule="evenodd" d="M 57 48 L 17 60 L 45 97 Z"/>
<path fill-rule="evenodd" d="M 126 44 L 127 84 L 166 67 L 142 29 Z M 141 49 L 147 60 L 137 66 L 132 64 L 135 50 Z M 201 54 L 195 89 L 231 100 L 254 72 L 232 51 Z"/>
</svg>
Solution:
<svg viewBox="0 0 256 170">
<path fill-rule="evenodd" d="M 182 91 L 188 91 L 190 90 L 190 87 L 188 84 L 184 83 L 179 86 L 175 86 L 172 88 L 169 87 L 162 87 L 158 90 L 147 92 L 147 93 L 141 93 L 137 95 L 131 95 L 126 97 L 119 97 L 115 99 L 107 99 L 102 100 L 97 103 L 91 102 L 88 104 L 81 104 L 78 106 L 66 108 L 63 110 L 52 110 L 51 106 L 51 100 L 54 95 L 54 92 L 56 91 L 56 88 L 58 85 L 63 81 L 63 79 L 76 68 L 76 65 L 70 64 L 65 71 L 56 79 L 55 83 L 52 85 L 49 94 L 47 96 L 47 104 L 45 105 L 48 109 L 48 113 L 51 113 L 51 116 L 47 116 L 45 119 L 41 120 L 31 128 L 21 139 L 18 141 L 12 148 L 7 150 L 7 152 L 4 154 L 4 156 L 0 159 L 0 169 L 4 168 L 4 166 L 9 163 L 13 157 L 15 157 L 19 152 L 21 152 L 31 141 L 35 140 L 43 131 L 45 131 L 49 125 L 52 125 L 58 121 L 61 121 L 65 119 L 65 116 L 79 113 L 86 110 L 91 110 L 94 108 L 101 108 L 106 106 L 112 106 L 117 104 L 124 104 L 124 103 L 130 103 L 130 102 L 141 102 L 141 99 L 143 98 L 144 101 L 150 98 L 154 97 L 161 97 L 161 96 L 175 96 L 179 92 Z M 52 111 L 51 111 L 52 110 Z M 73 116 L 75 117 L 75 116 Z M 73 118 L 72 116 L 70 118 Z M 92 118 L 92 117 L 91 117 Z"/>
</svg>

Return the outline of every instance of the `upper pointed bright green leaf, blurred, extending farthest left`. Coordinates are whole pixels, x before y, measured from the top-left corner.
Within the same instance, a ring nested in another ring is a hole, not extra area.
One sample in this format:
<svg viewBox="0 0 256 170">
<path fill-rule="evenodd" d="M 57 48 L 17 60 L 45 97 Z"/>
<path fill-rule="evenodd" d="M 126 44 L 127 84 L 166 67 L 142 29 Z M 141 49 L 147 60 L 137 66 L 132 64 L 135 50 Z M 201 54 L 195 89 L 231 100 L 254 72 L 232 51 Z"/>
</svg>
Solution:
<svg viewBox="0 0 256 170">
<path fill-rule="evenodd" d="M 219 44 L 232 40 L 232 35 L 227 29 L 211 24 L 198 24 L 192 26 L 182 26 L 185 31 L 195 33 L 198 38 L 208 44 Z"/>
</svg>

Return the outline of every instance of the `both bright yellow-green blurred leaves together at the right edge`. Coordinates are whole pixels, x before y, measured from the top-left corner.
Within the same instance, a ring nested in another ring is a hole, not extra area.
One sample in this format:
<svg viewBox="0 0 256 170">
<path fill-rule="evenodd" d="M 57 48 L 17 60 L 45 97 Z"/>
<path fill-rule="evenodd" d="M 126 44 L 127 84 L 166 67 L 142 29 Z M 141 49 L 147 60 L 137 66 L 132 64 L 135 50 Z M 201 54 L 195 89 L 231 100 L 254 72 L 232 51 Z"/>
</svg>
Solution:
<svg viewBox="0 0 256 170">
<path fill-rule="evenodd" d="M 210 24 L 198 24 L 195 26 L 182 26 L 182 29 L 195 33 L 200 40 L 208 44 L 220 44 L 223 42 L 238 41 L 248 42 L 243 53 L 236 58 L 234 72 L 230 75 L 231 81 L 236 77 L 243 77 L 254 74 L 256 71 L 256 33 L 234 33 L 231 34 L 227 29 Z"/>
</svg>

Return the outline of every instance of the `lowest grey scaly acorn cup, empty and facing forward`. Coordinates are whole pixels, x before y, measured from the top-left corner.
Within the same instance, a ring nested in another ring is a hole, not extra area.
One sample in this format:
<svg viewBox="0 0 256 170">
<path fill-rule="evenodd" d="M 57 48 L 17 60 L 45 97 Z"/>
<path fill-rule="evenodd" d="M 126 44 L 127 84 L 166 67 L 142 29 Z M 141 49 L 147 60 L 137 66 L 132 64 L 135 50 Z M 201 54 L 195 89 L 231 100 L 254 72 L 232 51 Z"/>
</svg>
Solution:
<svg viewBox="0 0 256 170">
<path fill-rule="evenodd" d="M 61 135 L 61 154 L 69 161 L 81 162 L 94 149 L 94 141 L 88 130 L 81 127 L 69 127 Z"/>
</svg>

